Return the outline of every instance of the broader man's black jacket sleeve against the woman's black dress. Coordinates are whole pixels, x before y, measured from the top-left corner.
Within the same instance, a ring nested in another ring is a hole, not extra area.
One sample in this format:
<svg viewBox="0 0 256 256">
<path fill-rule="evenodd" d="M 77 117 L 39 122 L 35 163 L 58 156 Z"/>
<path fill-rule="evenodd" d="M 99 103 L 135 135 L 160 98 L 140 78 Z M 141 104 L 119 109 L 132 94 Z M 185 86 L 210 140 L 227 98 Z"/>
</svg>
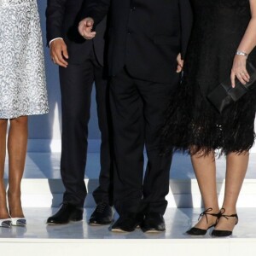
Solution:
<svg viewBox="0 0 256 256">
<path fill-rule="evenodd" d="M 193 14 L 189 0 L 179 0 L 180 18 L 181 18 L 181 55 L 182 59 L 186 55 L 189 44 L 190 32 L 193 23 Z"/>
</svg>

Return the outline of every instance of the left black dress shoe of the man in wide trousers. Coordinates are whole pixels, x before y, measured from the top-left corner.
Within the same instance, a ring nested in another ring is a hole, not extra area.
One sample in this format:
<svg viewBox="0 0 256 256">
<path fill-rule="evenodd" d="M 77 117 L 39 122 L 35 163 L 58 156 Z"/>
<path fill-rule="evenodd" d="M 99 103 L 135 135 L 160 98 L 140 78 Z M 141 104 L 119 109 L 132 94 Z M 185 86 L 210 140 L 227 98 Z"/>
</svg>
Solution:
<svg viewBox="0 0 256 256">
<path fill-rule="evenodd" d="M 119 217 L 119 219 L 113 224 L 112 232 L 131 232 L 136 230 L 137 227 L 142 224 L 143 215 L 132 214 Z"/>
</svg>

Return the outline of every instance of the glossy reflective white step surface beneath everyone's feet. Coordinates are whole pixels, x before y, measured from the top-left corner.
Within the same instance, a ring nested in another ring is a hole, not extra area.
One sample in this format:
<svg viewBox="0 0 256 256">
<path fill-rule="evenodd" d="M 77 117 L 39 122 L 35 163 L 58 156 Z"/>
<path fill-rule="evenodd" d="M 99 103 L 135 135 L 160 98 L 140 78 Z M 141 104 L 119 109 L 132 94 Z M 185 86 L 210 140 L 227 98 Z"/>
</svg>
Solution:
<svg viewBox="0 0 256 256">
<path fill-rule="evenodd" d="M 200 208 L 166 210 L 166 232 L 159 234 L 144 234 L 137 229 L 131 233 L 113 233 L 110 226 L 94 227 L 87 224 L 93 209 L 84 210 L 84 221 L 63 225 L 47 225 L 46 219 L 57 208 L 26 208 L 27 226 L 12 227 L 11 229 L 0 228 L 0 238 L 26 238 L 26 239 L 194 239 L 186 236 L 185 231 L 197 222 L 201 212 Z M 256 208 L 239 208 L 239 223 L 234 235 L 230 238 L 256 238 Z M 206 236 L 200 239 L 215 239 L 208 231 Z M 198 237 L 197 237 L 198 238 Z"/>
</svg>

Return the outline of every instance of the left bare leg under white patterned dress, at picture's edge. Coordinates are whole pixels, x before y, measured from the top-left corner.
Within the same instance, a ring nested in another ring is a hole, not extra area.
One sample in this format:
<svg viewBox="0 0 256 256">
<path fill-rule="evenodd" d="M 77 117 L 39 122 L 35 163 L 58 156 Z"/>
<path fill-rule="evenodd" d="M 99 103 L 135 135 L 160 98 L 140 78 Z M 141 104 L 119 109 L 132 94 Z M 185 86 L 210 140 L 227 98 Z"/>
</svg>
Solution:
<svg viewBox="0 0 256 256">
<path fill-rule="evenodd" d="M 4 161 L 6 156 L 6 133 L 8 119 L 0 119 L 0 219 L 9 218 L 6 203 L 6 191 L 3 182 Z"/>
</svg>

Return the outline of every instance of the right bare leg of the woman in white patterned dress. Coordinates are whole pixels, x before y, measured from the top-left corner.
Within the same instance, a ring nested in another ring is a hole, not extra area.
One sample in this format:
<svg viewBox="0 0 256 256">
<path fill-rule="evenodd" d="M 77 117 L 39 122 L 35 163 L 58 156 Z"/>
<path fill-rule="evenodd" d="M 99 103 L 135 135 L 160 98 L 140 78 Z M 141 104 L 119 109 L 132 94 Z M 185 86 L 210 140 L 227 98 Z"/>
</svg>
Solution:
<svg viewBox="0 0 256 256">
<path fill-rule="evenodd" d="M 23 176 L 27 147 L 27 116 L 10 120 L 9 127 L 9 212 L 11 217 L 24 217 L 20 201 L 20 183 Z"/>
</svg>

